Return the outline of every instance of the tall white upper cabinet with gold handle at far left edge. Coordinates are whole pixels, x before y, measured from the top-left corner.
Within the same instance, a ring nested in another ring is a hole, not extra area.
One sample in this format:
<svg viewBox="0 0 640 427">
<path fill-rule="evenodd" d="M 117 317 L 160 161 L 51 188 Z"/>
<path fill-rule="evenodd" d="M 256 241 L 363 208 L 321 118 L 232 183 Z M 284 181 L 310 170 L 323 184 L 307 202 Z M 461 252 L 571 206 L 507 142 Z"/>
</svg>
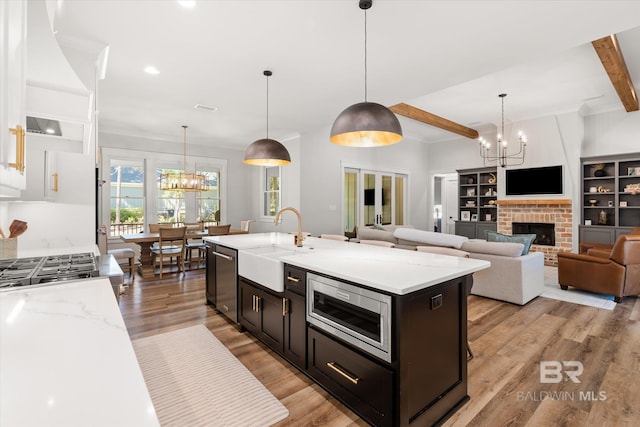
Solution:
<svg viewBox="0 0 640 427">
<path fill-rule="evenodd" d="M 0 1 L 0 196 L 26 186 L 26 31 L 27 2 Z"/>
</svg>

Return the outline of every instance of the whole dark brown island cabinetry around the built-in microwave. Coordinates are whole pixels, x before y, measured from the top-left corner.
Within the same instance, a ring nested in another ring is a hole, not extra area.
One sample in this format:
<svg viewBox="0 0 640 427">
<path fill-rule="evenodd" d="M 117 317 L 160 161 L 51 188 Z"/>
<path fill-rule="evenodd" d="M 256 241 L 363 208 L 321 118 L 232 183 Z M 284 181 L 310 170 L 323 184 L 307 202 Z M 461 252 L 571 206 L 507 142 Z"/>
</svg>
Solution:
<svg viewBox="0 0 640 427">
<path fill-rule="evenodd" d="M 471 274 L 395 294 L 287 263 L 283 269 L 283 292 L 237 277 L 240 325 L 363 420 L 374 426 L 439 425 L 469 400 L 465 289 Z M 389 353 L 376 355 L 315 325 L 307 313 L 318 308 L 315 303 L 321 303 L 329 317 L 333 313 L 337 321 L 365 329 L 372 318 L 365 320 L 362 316 L 371 313 L 358 313 L 357 308 L 349 316 L 345 304 L 316 294 L 314 277 L 388 298 L 391 310 L 384 313 L 391 326 L 387 331 L 383 321 L 378 332 L 389 337 Z"/>
</svg>

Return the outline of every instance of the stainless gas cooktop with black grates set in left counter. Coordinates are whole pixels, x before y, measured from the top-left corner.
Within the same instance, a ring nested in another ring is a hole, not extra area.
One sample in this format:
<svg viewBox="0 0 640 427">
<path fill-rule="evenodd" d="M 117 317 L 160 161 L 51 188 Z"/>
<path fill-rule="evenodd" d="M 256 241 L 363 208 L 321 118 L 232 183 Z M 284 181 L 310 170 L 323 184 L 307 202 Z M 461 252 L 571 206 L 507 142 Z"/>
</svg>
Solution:
<svg viewBox="0 0 640 427">
<path fill-rule="evenodd" d="M 0 260 L 0 291 L 99 275 L 91 252 Z"/>
</svg>

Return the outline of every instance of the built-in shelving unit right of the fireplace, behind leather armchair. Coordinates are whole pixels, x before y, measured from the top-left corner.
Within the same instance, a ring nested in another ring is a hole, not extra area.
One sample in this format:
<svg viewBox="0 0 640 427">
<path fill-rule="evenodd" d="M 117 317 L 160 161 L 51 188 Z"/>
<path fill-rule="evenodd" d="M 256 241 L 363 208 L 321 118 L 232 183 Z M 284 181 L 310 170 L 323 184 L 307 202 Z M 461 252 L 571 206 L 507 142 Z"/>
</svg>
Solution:
<svg viewBox="0 0 640 427">
<path fill-rule="evenodd" d="M 581 242 L 613 244 L 640 227 L 640 153 L 582 160 Z"/>
</svg>

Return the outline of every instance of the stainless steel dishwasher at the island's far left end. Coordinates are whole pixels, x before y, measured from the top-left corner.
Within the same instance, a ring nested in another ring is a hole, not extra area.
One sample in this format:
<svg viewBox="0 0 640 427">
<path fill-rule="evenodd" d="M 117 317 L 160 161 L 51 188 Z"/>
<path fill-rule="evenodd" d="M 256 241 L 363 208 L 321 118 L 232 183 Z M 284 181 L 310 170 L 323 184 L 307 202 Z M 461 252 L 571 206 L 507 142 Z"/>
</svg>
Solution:
<svg viewBox="0 0 640 427">
<path fill-rule="evenodd" d="M 215 295 L 216 308 L 238 323 L 238 251 L 215 245 Z"/>
</svg>

